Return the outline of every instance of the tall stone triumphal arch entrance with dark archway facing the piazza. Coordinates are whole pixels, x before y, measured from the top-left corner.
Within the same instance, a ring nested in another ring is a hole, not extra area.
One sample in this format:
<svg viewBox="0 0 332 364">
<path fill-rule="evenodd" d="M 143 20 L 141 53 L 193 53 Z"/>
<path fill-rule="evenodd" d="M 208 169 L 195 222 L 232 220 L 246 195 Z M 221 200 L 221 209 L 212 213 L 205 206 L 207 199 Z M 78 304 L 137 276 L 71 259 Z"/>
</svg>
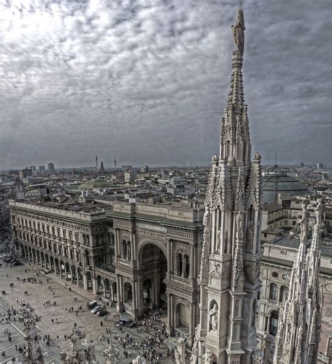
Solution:
<svg viewBox="0 0 332 364">
<path fill-rule="evenodd" d="M 161 309 L 171 336 L 193 340 L 198 323 L 202 208 L 113 204 L 118 309 L 133 318 Z"/>
</svg>

